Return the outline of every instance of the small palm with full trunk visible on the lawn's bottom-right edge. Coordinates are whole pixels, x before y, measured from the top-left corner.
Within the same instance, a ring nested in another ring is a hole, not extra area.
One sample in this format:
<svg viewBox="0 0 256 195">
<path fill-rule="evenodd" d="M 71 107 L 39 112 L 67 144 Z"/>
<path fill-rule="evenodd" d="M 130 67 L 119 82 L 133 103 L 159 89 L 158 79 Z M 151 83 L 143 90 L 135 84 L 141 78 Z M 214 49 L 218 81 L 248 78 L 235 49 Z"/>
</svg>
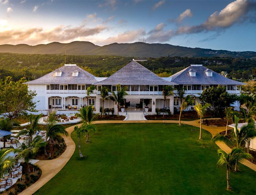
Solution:
<svg viewBox="0 0 256 195">
<path fill-rule="evenodd" d="M 237 162 L 243 162 L 245 159 L 251 158 L 251 155 L 244 152 L 241 147 L 233 148 L 231 152 L 226 154 L 223 150 L 219 149 L 218 154 L 220 155 L 217 166 L 225 166 L 227 169 L 227 190 L 231 190 L 229 185 L 229 172 L 233 171 Z"/>
</svg>

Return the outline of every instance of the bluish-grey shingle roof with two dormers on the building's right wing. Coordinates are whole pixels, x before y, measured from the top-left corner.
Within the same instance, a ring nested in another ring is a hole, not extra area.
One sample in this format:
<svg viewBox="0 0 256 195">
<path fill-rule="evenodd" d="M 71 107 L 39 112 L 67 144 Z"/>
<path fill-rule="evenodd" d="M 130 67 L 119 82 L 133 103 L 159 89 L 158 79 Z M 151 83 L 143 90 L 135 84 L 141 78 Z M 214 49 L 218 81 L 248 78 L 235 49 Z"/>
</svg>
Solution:
<svg viewBox="0 0 256 195">
<path fill-rule="evenodd" d="M 194 69 L 196 72 L 196 76 L 190 76 L 189 70 Z M 212 76 L 207 76 L 205 71 L 210 72 L 212 70 L 199 65 L 192 65 L 174 75 L 170 76 L 171 81 L 178 84 L 211 84 L 211 85 L 244 85 L 245 83 L 241 83 L 235 80 L 231 80 L 222 76 L 219 73 L 212 71 Z M 167 80 L 167 79 L 166 79 Z M 169 79 L 168 79 L 169 80 Z"/>
</svg>

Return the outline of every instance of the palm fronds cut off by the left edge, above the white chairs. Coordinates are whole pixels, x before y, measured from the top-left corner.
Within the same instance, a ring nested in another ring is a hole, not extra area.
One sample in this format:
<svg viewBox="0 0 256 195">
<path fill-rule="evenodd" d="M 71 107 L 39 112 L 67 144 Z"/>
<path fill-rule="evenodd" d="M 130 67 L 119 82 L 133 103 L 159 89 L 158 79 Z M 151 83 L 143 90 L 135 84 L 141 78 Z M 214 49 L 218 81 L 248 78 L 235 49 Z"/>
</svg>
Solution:
<svg viewBox="0 0 256 195">
<path fill-rule="evenodd" d="M 0 178 L 9 174 L 12 171 L 13 165 L 15 165 L 16 159 L 9 156 L 9 153 L 12 151 L 12 148 L 3 148 L 0 150 Z"/>
</svg>

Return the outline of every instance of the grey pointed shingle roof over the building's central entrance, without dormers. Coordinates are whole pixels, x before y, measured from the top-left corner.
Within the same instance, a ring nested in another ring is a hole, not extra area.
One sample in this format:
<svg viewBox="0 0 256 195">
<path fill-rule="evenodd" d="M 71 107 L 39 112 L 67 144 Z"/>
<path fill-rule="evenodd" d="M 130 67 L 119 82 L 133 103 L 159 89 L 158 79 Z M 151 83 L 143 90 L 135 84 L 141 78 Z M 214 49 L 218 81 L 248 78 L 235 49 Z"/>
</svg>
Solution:
<svg viewBox="0 0 256 195">
<path fill-rule="evenodd" d="M 109 76 L 107 79 L 96 83 L 97 85 L 177 85 L 166 81 L 152 73 L 138 62 L 131 61 L 129 64 Z"/>
</svg>

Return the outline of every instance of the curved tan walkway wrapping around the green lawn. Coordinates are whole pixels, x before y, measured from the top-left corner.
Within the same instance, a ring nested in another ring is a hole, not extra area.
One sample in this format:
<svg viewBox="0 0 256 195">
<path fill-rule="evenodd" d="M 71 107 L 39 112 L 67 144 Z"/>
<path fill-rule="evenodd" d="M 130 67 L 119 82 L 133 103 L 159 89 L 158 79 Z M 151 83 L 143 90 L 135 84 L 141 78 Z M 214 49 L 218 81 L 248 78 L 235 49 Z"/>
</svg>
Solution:
<svg viewBox="0 0 256 195">
<path fill-rule="evenodd" d="M 213 119 L 219 119 L 219 118 L 212 118 Z M 210 119 L 208 119 L 210 120 Z M 146 121 L 94 121 L 94 124 L 104 124 L 104 123 L 179 123 L 177 120 L 146 120 Z M 192 125 L 196 127 L 200 127 L 199 120 L 194 121 L 181 121 L 182 124 L 186 125 Z M 76 126 L 76 125 L 74 125 Z M 41 188 L 45 183 L 47 183 L 50 179 L 52 179 L 69 161 L 71 156 L 73 155 L 76 145 L 72 138 L 70 137 L 70 134 L 74 130 L 74 126 L 66 128 L 66 130 L 69 132 L 68 137 L 63 137 L 67 148 L 66 151 L 59 156 L 58 158 L 55 158 L 53 160 L 40 160 L 36 165 L 38 165 L 42 170 L 42 175 L 38 179 L 36 183 L 29 186 L 26 190 L 22 191 L 20 195 L 31 195 L 34 192 L 36 192 L 39 188 Z M 211 127 L 202 125 L 202 128 L 209 131 L 212 136 L 215 136 L 216 134 L 220 133 L 221 131 L 226 130 L 226 127 Z M 203 137 L 204 138 L 204 137 Z M 217 145 L 224 150 L 225 152 L 230 152 L 231 149 L 226 145 L 222 143 L 217 143 Z M 253 169 L 256 171 L 256 165 L 251 163 L 250 161 L 244 161 L 243 163 L 247 167 Z"/>
</svg>

